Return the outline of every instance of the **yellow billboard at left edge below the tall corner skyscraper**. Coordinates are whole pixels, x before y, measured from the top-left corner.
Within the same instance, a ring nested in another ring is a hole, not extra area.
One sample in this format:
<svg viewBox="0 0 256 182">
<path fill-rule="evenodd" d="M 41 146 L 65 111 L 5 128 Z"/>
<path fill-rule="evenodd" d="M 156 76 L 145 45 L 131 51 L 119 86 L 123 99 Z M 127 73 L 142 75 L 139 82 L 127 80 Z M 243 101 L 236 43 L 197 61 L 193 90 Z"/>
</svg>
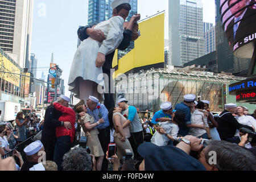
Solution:
<svg viewBox="0 0 256 182">
<path fill-rule="evenodd" d="M 13 73 L 20 73 L 20 69 L 12 62 L 13 61 L 8 59 L 7 56 L 0 51 L 0 70 L 3 72 L 9 72 L 1 73 L 1 78 L 15 86 L 19 86 L 20 76 L 14 75 Z"/>
</svg>

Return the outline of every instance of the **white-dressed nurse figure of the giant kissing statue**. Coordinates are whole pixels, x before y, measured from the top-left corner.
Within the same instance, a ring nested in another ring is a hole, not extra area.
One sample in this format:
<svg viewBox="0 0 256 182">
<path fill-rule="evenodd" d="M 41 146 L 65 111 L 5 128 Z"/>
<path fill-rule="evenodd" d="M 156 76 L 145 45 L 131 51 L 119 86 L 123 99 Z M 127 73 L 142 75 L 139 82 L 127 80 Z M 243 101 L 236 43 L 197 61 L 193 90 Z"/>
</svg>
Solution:
<svg viewBox="0 0 256 182">
<path fill-rule="evenodd" d="M 112 3 L 112 18 L 94 27 L 94 29 L 104 32 L 106 40 L 99 43 L 89 37 L 81 43 L 75 53 L 68 85 L 69 91 L 75 93 L 80 100 L 87 100 L 89 96 L 94 96 L 100 101 L 104 100 L 105 84 L 102 66 L 105 63 L 105 56 L 117 49 L 122 42 L 123 23 L 131 10 L 131 6 L 128 3 L 115 7 L 114 5 L 118 5 L 118 2 L 118 0 L 115 0 Z M 134 15 L 127 29 L 133 31 L 134 23 L 140 17 L 138 14 Z"/>
</svg>

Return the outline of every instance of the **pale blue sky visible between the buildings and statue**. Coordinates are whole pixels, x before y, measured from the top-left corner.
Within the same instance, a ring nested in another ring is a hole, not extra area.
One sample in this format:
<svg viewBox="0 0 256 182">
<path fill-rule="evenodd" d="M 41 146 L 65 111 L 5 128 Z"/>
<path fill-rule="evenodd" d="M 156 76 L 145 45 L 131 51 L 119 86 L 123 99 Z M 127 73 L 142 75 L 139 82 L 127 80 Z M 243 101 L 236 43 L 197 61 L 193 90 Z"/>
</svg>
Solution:
<svg viewBox="0 0 256 182">
<path fill-rule="evenodd" d="M 204 21 L 215 24 L 214 0 L 201 1 L 204 5 Z M 163 10 L 168 13 L 168 0 L 138 0 L 138 13 L 141 13 L 142 19 Z M 166 25 L 167 18 L 168 15 Z M 34 1 L 31 53 L 35 53 L 38 59 L 37 78 L 41 77 L 42 72 L 48 74 L 51 53 L 54 53 L 54 62 L 63 69 L 61 78 L 65 82 L 66 96 L 70 94 L 68 77 L 77 49 L 77 29 L 80 25 L 86 25 L 87 19 L 88 0 Z M 165 29 L 165 37 L 168 38 L 168 26 Z"/>
</svg>

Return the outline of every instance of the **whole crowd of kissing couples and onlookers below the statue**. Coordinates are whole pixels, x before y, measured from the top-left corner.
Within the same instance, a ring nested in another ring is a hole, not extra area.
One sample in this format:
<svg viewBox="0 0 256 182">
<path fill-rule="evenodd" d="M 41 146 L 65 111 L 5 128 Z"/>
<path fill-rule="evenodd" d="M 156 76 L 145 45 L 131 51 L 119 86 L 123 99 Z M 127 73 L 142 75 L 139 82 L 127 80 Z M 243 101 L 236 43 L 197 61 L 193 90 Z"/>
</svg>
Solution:
<svg viewBox="0 0 256 182">
<path fill-rule="evenodd" d="M 47 107 L 41 139 L 24 148 L 26 158 L 22 158 L 20 152 L 14 150 L 13 156 L 17 156 L 19 160 L 18 163 L 13 160 L 15 169 L 256 169 L 256 120 L 249 115 L 246 107 L 226 104 L 225 110 L 216 119 L 207 110 L 209 101 L 196 101 L 196 96 L 187 94 L 184 101 L 175 107 L 171 102 L 164 102 L 152 119 L 144 118 L 141 121 L 137 109 L 130 106 L 125 98 L 118 100 L 116 107 L 109 111 L 93 96 L 89 96 L 86 104 L 82 100 L 71 106 L 68 105 L 69 101 L 68 97 L 61 95 L 59 100 Z M 209 115 L 214 120 L 209 119 Z M 23 131 L 24 134 L 20 135 L 22 128 L 26 129 L 28 125 L 37 123 L 36 129 L 39 129 L 40 123 L 36 122 L 34 114 L 31 116 L 32 118 L 26 116 L 23 119 L 22 113 L 17 115 L 16 125 L 19 130 L 15 133 L 18 134 L 14 133 L 15 129 L 12 129 L 11 124 L 0 129 L 2 156 L 26 139 L 26 132 Z M 79 138 L 82 137 L 86 137 L 86 147 L 79 144 Z M 108 156 L 110 143 L 116 144 L 113 156 Z M 216 154 L 216 161 L 210 158 L 212 154 Z M 10 169 L 10 165 L 11 163 L 6 169 Z"/>
</svg>

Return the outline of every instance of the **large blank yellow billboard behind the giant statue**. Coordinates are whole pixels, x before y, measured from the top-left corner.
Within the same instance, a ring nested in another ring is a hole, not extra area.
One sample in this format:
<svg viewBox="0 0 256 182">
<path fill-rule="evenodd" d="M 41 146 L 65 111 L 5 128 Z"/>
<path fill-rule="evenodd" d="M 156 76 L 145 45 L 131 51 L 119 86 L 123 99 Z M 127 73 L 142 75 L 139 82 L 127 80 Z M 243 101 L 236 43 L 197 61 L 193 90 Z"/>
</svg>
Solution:
<svg viewBox="0 0 256 182">
<path fill-rule="evenodd" d="M 139 23 L 141 36 L 135 40 L 134 49 L 118 60 L 117 51 L 113 68 L 117 67 L 113 78 L 134 68 L 164 64 L 164 13 Z"/>
</svg>

